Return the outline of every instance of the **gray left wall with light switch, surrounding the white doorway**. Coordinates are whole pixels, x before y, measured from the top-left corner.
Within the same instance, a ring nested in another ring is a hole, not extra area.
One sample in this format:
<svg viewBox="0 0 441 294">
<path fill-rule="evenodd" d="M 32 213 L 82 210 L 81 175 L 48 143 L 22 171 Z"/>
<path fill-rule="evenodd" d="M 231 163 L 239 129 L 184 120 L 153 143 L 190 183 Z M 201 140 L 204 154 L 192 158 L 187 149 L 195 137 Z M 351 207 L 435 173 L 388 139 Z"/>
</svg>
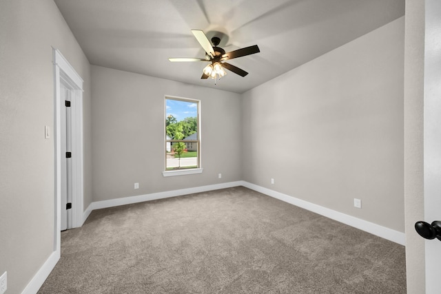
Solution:
<svg viewBox="0 0 441 294">
<path fill-rule="evenodd" d="M 84 83 L 85 206 L 92 201 L 90 65 L 52 0 L 0 1 L 0 274 L 21 293 L 54 248 L 52 48 Z M 44 138 L 44 126 L 51 138 Z"/>
</svg>

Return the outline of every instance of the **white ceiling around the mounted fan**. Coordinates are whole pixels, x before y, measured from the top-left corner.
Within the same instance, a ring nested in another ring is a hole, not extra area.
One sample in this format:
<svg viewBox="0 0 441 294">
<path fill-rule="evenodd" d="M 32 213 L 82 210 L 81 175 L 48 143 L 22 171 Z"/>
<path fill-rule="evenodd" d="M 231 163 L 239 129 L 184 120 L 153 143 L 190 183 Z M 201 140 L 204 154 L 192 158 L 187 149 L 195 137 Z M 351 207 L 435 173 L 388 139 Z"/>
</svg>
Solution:
<svg viewBox="0 0 441 294">
<path fill-rule="evenodd" d="M 90 63 L 242 93 L 404 15 L 404 0 L 54 0 Z M 229 61 L 249 72 L 201 80 L 204 58 L 190 30 L 223 36 Z"/>
</svg>

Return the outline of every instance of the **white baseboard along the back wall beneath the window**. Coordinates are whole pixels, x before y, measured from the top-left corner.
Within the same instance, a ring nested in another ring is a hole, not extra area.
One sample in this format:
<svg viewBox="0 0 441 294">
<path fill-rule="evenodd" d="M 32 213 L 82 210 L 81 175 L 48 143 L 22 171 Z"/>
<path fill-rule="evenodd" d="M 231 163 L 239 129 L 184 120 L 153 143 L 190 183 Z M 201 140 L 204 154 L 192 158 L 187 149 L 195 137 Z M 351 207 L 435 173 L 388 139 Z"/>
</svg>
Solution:
<svg viewBox="0 0 441 294">
<path fill-rule="evenodd" d="M 164 198 L 182 196 L 182 195 L 187 195 L 187 194 L 192 194 L 192 193 L 200 193 L 200 192 L 206 192 L 206 191 L 212 191 L 212 190 L 218 190 L 218 189 L 237 187 L 237 186 L 242 186 L 242 185 L 243 185 L 242 181 L 225 182 L 225 183 L 216 184 L 216 185 L 208 185 L 208 186 L 201 186 L 201 187 L 194 187 L 194 188 L 187 188 L 187 189 L 180 189 L 180 190 L 173 190 L 173 191 L 151 193 L 151 194 L 145 194 L 145 195 L 139 195 L 139 196 L 130 196 L 130 197 L 124 197 L 124 198 L 111 199 L 111 200 L 96 201 L 96 202 L 90 203 L 88 209 L 90 209 L 90 211 L 92 211 L 94 209 L 116 207 L 116 206 L 125 205 L 125 204 L 132 204 L 132 203 L 139 203 L 139 202 L 145 202 L 145 201 L 150 201 L 150 200 L 164 199 Z M 86 210 L 86 211 L 88 211 L 88 210 Z"/>
</svg>

